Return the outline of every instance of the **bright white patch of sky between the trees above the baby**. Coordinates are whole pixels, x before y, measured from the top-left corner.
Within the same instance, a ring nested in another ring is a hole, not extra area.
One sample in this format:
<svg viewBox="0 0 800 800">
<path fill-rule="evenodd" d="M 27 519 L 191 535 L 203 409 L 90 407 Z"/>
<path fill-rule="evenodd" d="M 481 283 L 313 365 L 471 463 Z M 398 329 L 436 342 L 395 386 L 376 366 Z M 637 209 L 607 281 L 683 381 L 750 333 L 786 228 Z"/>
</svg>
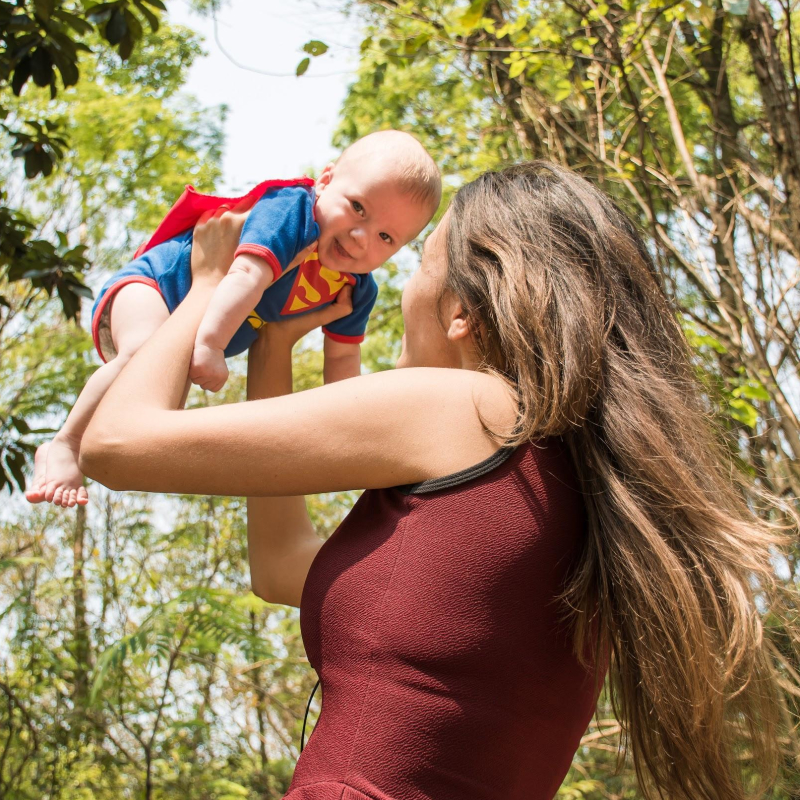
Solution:
<svg viewBox="0 0 800 800">
<path fill-rule="evenodd" d="M 215 25 L 193 12 L 187 0 L 167 4 L 171 22 L 205 39 L 208 55 L 195 62 L 186 91 L 203 105 L 224 103 L 229 109 L 220 193 L 319 170 L 335 157 L 331 137 L 360 41 L 359 21 L 345 16 L 342 5 L 335 0 L 227 0 Z M 302 46 L 312 39 L 330 50 L 312 59 L 298 78 Z"/>
</svg>

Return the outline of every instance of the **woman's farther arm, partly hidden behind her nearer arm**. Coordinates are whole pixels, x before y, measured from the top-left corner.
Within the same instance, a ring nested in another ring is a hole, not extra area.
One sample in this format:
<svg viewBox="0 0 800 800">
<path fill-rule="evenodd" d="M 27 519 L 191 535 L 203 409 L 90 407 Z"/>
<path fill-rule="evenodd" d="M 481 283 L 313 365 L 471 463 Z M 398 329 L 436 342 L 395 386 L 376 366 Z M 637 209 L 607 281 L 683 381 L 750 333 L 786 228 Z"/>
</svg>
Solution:
<svg viewBox="0 0 800 800">
<path fill-rule="evenodd" d="M 352 310 L 350 290 L 321 311 L 259 332 L 247 361 L 247 399 L 292 393 L 292 347 L 306 333 Z M 311 562 L 322 539 L 308 517 L 303 497 L 248 497 L 247 546 L 253 592 L 269 603 L 299 606 Z"/>
</svg>

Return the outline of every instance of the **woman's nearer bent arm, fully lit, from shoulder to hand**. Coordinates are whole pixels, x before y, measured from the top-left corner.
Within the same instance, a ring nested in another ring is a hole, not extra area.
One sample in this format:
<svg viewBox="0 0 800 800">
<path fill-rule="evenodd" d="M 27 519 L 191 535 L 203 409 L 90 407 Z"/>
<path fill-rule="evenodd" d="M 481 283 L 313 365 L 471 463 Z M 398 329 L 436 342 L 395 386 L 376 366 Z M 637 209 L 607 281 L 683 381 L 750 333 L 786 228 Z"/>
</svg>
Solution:
<svg viewBox="0 0 800 800">
<path fill-rule="evenodd" d="M 469 467 L 513 424 L 501 381 L 453 369 L 365 375 L 288 397 L 178 410 L 209 298 L 241 215 L 195 232 L 193 283 L 131 359 L 83 438 L 84 474 L 114 489 L 257 496 L 413 483 Z"/>
</svg>

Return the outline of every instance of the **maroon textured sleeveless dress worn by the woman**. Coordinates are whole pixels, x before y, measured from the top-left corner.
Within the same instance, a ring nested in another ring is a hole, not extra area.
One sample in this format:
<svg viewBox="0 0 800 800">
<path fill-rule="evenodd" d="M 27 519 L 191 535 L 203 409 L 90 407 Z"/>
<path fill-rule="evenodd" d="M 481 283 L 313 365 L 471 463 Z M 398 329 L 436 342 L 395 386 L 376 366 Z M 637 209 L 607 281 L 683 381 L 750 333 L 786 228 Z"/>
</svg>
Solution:
<svg viewBox="0 0 800 800">
<path fill-rule="evenodd" d="M 555 600 L 585 526 L 555 440 L 364 492 L 303 589 L 323 699 L 285 800 L 552 800 L 599 688 Z"/>
</svg>

